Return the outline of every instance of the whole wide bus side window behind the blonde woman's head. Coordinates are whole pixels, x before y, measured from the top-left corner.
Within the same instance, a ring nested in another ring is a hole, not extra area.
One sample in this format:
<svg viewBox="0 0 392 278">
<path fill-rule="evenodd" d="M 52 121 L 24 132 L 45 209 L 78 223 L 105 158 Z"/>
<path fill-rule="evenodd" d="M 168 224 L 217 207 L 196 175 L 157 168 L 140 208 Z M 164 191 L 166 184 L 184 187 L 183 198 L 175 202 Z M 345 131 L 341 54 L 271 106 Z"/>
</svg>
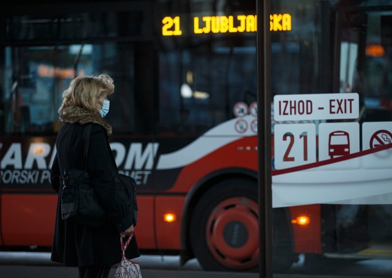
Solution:
<svg viewBox="0 0 392 278">
<path fill-rule="evenodd" d="M 134 105 L 144 105 L 147 112 L 152 107 L 148 93 L 135 93 L 132 45 L 20 46 L 6 47 L 4 54 L 9 63 L 3 95 L 5 133 L 55 132 L 62 93 L 75 77 L 75 69 L 78 75 L 104 72 L 116 80 L 116 93 L 109 97 L 111 110 L 107 117 L 118 133 L 151 132 L 148 116 L 141 117 L 144 111 Z M 124 59 L 128 63 L 120 63 Z M 148 78 L 152 73 L 146 74 Z"/>
</svg>

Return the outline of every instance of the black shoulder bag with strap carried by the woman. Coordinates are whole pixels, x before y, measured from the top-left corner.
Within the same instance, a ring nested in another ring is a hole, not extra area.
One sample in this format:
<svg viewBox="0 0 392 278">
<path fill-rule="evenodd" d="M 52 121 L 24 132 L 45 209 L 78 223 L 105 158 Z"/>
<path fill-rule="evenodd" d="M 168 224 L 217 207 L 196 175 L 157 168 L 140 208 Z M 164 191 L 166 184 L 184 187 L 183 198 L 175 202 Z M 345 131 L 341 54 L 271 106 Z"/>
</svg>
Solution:
<svg viewBox="0 0 392 278">
<path fill-rule="evenodd" d="M 90 183 L 90 177 L 86 171 L 87 154 L 90 142 L 92 125 L 86 126 L 83 133 L 84 141 L 84 170 L 64 169 L 64 174 L 60 176 L 62 181 L 61 198 L 61 217 L 63 220 L 80 223 L 91 227 L 112 228 L 113 221 L 109 218 L 108 213 L 99 204 L 94 189 Z M 62 131 L 63 132 L 63 131 Z M 59 145 L 61 143 L 60 136 Z M 58 163 L 61 169 L 60 154 L 58 152 Z M 134 226 L 137 218 L 136 202 L 136 181 L 126 175 L 119 175 L 115 178 L 117 185 L 117 194 L 120 199 L 125 200 L 127 208 L 133 214 Z"/>
</svg>

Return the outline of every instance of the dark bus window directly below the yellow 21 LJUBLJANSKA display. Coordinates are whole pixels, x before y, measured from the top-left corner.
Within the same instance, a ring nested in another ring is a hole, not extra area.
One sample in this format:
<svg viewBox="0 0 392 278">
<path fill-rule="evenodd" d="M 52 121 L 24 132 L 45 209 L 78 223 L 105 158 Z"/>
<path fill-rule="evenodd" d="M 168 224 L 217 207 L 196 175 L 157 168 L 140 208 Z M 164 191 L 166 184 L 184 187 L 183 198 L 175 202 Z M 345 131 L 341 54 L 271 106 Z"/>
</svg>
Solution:
<svg viewBox="0 0 392 278">
<path fill-rule="evenodd" d="M 160 54 L 158 133 L 202 134 L 231 119 L 238 101 L 256 101 L 256 48 L 234 44 L 205 42 L 197 51 Z"/>
</svg>

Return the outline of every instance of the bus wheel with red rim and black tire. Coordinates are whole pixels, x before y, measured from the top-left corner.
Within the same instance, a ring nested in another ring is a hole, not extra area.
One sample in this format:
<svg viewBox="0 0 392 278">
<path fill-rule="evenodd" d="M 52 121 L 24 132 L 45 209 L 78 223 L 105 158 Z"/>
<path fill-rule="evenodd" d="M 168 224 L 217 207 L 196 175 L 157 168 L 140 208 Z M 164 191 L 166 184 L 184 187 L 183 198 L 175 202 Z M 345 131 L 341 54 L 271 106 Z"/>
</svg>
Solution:
<svg viewBox="0 0 392 278">
<path fill-rule="evenodd" d="M 190 223 L 200 264 L 212 271 L 256 271 L 259 263 L 257 183 L 231 179 L 208 189 Z"/>
</svg>

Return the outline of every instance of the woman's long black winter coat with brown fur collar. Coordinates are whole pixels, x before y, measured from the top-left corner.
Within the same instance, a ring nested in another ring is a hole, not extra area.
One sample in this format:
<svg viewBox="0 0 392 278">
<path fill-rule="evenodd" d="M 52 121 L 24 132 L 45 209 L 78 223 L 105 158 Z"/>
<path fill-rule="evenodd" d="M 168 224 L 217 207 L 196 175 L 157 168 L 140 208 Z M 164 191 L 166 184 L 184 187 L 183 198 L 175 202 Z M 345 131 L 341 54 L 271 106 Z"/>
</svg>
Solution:
<svg viewBox="0 0 392 278">
<path fill-rule="evenodd" d="M 54 228 L 51 260 L 66 266 L 112 266 L 122 257 L 120 232 L 129 228 L 133 222 L 130 211 L 123 211 L 125 206 L 115 197 L 114 178 L 118 175 L 117 165 L 110 149 L 107 137 L 111 126 L 98 114 L 80 107 L 67 107 L 62 110 L 60 120 L 63 125 L 61 143 L 56 140 L 57 155 L 51 169 L 53 189 L 61 194 L 59 180 L 64 168 L 83 169 L 84 142 L 83 132 L 87 124 L 93 123 L 87 157 L 87 173 L 98 200 L 113 216 L 113 227 L 92 228 L 81 224 L 64 221 L 61 218 L 61 204 L 57 201 L 56 223 Z M 58 163 L 61 157 L 61 169 Z M 135 236 L 126 250 L 127 258 L 140 256 Z"/>
</svg>

